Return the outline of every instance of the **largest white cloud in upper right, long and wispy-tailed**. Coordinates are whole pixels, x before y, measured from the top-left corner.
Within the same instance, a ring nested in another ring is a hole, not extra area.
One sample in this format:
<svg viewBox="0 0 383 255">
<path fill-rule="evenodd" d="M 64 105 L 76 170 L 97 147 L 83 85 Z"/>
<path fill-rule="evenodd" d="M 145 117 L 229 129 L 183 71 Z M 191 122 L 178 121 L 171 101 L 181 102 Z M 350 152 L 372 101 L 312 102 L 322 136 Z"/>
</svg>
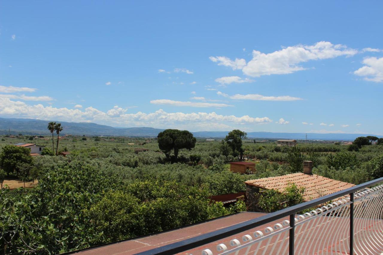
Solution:
<svg viewBox="0 0 383 255">
<path fill-rule="evenodd" d="M 302 45 L 286 47 L 272 53 L 253 51 L 253 58 L 246 64 L 244 59 L 231 60 L 228 57 L 210 57 L 218 65 L 225 65 L 252 77 L 272 74 L 291 74 L 307 68 L 299 64 L 309 60 L 331 59 L 339 56 L 354 56 L 357 50 L 350 49 L 342 44 L 330 42 L 318 42 L 313 45 Z"/>
</svg>

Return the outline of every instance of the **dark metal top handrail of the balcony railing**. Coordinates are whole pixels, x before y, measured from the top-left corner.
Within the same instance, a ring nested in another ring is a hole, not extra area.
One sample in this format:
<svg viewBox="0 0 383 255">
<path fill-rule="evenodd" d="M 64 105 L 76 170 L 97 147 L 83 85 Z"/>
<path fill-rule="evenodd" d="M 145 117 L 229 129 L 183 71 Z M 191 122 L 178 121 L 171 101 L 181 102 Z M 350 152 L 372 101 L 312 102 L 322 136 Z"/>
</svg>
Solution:
<svg viewBox="0 0 383 255">
<path fill-rule="evenodd" d="M 291 206 L 280 211 L 272 212 L 268 215 L 258 217 L 256 219 L 251 219 L 249 221 L 245 221 L 234 226 L 225 227 L 223 229 L 215 230 L 210 233 L 202 234 L 196 237 L 192 237 L 186 240 L 182 240 L 180 242 L 176 242 L 173 244 L 168 244 L 162 247 L 154 248 L 152 250 L 148 250 L 145 252 L 141 252 L 138 254 L 147 255 L 147 254 L 175 254 L 179 252 L 184 252 L 186 250 L 190 250 L 192 248 L 196 248 L 205 244 L 209 244 L 211 242 L 230 237 L 232 235 L 244 232 L 249 229 L 253 229 L 255 227 L 262 226 L 264 224 L 276 221 L 286 216 L 291 216 L 296 214 L 297 212 L 303 211 L 304 209 L 313 208 L 319 204 L 323 204 L 325 202 L 331 201 L 335 198 L 340 198 L 342 196 L 350 195 L 356 191 L 360 191 L 363 188 L 367 188 L 373 186 L 378 183 L 383 182 L 383 177 L 378 178 L 372 181 L 368 181 L 362 183 L 360 185 L 356 185 L 352 188 L 347 188 L 342 191 L 337 191 L 335 193 L 322 196 L 321 198 L 316 198 L 311 201 L 307 201 L 301 204 L 297 204 L 295 206 Z"/>
</svg>

